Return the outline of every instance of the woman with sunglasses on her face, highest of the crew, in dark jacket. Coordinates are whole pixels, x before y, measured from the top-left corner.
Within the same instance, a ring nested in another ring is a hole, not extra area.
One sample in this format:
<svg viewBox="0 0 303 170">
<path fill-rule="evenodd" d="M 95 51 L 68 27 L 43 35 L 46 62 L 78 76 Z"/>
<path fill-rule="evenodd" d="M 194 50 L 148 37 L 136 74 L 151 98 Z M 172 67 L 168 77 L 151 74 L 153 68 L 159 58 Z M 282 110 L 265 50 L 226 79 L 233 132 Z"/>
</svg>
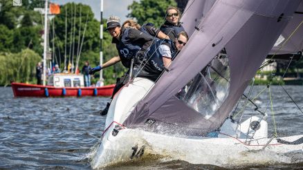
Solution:
<svg viewBox="0 0 303 170">
<path fill-rule="evenodd" d="M 169 36 L 170 39 L 174 40 L 178 33 L 184 31 L 181 26 L 181 12 L 178 8 L 171 6 L 166 9 L 165 23 L 160 27 L 160 30 Z"/>
</svg>

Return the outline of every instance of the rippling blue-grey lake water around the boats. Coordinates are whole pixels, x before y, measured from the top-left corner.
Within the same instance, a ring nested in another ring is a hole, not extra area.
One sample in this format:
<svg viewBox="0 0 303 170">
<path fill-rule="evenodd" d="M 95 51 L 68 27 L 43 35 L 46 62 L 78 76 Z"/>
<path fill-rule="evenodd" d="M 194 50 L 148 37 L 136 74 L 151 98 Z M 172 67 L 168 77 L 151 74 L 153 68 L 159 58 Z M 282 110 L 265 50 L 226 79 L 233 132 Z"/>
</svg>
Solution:
<svg viewBox="0 0 303 170">
<path fill-rule="evenodd" d="M 254 89 L 262 88 L 264 86 Z M 284 88 L 302 108 L 303 86 Z M 279 86 L 272 86 L 270 93 L 278 136 L 303 134 L 303 113 Z M 252 96 L 256 94 L 254 92 Z M 256 103 L 264 108 L 268 106 L 268 99 L 268 93 L 262 93 Z M 0 87 L 0 169 L 91 169 L 88 155 L 102 135 L 106 118 L 100 116 L 98 111 L 108 101 L 107 97 L 15 98 L 10 87 Z M 248 108 L 246 113 L 249 114 L 250 110 L 252 108 Z M 268 122 L 268 135 L 273 133 L 273 124 Z M 235 168 L 303 167 L 303 153 L 289 156 L 291 162 L 288 163 L 273 158 L 273 161 L 242 164 L 241 167 L 235 165 Z M 224 167 L 165 158 L 144 158 L 136 162 L 120 162 L 106 169 L 221 168 Z"/>
</svg>

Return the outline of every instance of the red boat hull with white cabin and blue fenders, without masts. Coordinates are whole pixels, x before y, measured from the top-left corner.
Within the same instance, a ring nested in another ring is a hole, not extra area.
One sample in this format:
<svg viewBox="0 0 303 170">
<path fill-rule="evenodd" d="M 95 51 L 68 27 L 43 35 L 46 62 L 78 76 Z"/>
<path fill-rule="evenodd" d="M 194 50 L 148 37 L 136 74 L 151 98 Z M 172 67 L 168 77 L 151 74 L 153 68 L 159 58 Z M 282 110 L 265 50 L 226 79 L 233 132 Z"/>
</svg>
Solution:
<svg viewBox="0 0 303 170">
<path fill-rule="evenodd" d="M 84 87 L 83 76 L 55 74 L 48 79 L 48 86 L 12 82 L 15 97 L 109 97 L 115 84 Z"/>
</svg>

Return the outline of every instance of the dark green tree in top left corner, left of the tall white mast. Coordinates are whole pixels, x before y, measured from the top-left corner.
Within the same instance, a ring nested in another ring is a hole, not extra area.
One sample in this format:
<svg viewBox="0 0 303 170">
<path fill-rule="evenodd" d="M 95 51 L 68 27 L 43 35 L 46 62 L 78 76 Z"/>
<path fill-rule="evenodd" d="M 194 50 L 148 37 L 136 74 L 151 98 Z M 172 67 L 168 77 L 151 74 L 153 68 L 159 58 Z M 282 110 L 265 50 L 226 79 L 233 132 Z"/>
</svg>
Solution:
<svg viewBox="0 0 303 170">
<path fill-rule="evenodd" d="M 29 47 L 41 54 L 39 30 L 42 29 L 42 17 L 38 12 L 27 10 L 30 1 L 22 3 L 23 6 L 12 6 L 12 1 L 1 1 L 0 52 L 18 53 Z"/>
</svg>

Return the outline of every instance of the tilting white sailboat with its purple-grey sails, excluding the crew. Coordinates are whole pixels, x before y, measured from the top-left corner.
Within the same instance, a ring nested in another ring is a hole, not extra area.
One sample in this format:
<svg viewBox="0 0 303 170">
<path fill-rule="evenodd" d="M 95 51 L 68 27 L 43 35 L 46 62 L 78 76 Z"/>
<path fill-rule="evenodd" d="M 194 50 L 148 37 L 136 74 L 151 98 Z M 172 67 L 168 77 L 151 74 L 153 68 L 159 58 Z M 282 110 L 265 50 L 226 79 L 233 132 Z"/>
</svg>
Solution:
<svg viewBox="0 0 303 170">
<path fill-rule="evenodd" d="M 145 154 L 220 166 L 246 151 L 302 153 L 303 135 L 268 136 L 267 113 L 256 108 L 243 122 L 231 113 L 303 1 L 203 4 L 187 3 L 190 39 L 158 81 L 135 77 L 113 97 L 93 169 Z M 191 10 L 199 7 L 209 11 Z"/>
</svg>

